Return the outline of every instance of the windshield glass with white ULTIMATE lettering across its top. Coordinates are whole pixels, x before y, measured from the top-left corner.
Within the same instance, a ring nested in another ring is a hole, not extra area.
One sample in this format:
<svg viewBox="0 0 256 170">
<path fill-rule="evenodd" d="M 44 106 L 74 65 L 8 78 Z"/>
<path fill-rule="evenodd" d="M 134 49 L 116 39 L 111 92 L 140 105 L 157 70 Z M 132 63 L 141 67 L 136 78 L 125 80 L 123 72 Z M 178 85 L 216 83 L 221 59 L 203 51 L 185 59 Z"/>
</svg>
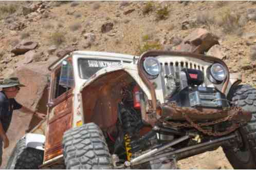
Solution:
<svg viewBox="0 0 256 170">
<path fill-rule="evenodd" d="M 120 65 L 120 61 L 78 59 L 79 75 L 81 79 L 89 79 L 94 73 L 107 66 Z"/>
</svg>

